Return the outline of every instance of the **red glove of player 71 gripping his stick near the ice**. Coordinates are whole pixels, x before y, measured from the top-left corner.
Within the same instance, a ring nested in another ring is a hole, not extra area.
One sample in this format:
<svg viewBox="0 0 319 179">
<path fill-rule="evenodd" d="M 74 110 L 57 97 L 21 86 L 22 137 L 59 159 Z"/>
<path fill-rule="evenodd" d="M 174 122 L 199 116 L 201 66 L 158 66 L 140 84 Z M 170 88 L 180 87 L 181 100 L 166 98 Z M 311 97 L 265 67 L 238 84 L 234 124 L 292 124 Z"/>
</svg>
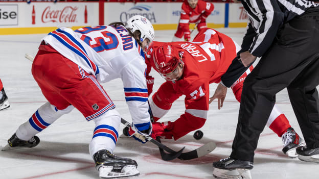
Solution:
<svg viewBox="0 0 319 179">
<path fill-rule="evenodd" d="M 173 129 L 173 122 L 153 122 L 153 131 L 151 137 L 156 139 L 156 137 L 162 139 L 172 139 L 173 134 L 171 130 Z"/>
</svg>

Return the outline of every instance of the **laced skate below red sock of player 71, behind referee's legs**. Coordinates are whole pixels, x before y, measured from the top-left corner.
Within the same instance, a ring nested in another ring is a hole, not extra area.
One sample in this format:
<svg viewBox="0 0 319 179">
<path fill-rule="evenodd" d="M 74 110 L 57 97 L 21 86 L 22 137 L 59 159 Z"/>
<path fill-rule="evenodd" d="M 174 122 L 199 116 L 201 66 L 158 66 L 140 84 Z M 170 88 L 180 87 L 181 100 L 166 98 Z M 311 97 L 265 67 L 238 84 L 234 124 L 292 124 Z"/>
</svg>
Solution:
<svg viewBox="0 0 319 179">
<path fill-rule="evenodd" d="M 282 151 L 284 154 L 291 158 L 297 157 L 298 154 L 296 153 L 296 148 L 304 145 L 304 140 L 292 129 L 292 127 L 289 127 L 282 135 L 282 140 L 284 145 Z"/>
</svg>

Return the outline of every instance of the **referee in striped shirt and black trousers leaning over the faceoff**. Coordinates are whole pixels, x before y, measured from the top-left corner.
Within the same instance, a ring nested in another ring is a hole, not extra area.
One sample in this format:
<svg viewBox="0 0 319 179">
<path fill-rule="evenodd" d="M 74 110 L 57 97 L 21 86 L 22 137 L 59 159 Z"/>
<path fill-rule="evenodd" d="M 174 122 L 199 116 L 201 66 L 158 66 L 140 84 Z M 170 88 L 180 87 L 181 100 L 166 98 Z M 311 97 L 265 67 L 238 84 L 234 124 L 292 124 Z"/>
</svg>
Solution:
<svg viewBox="0 0 319 179">
<path fill-rule="evenodd" d="M 319 4 L 307 0 L 241 3 L 248 15 L 247 32 L 242 49 L 215 94 L 224 98 L 221 89 L 230 87 L 257 57 L 261 59 L 244 81 L 232 154 L 213 163 L 214 175 L 218 176 L 219 169 L 253 168 L 260 133 L 274 107 L 276 93 L 284 88 L 306 142 L 306 146 L 297 148 L 298 157 L 319 162 L 313 158 L 319 155 Z"/>
</svg>

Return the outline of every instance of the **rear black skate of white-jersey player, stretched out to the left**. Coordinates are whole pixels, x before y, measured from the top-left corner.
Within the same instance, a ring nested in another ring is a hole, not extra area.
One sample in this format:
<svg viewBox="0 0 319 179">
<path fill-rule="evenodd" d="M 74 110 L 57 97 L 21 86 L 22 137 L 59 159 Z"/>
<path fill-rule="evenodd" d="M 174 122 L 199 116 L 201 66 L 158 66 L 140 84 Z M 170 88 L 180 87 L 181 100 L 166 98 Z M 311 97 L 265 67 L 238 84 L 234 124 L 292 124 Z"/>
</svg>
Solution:
<svg viewBox="0 0 319 179">
<path fill-rule="evenodd" d="M 8 144 L 4 146 L 1 150 L 13 150 L 21 148 L 32 148 L 40 143 L 40 139 L 37 136 L 33 136 L 30 140 L 25 141 L 19 139 L 14 133 L 10 139 L 8 139 Z"/>
</svg>

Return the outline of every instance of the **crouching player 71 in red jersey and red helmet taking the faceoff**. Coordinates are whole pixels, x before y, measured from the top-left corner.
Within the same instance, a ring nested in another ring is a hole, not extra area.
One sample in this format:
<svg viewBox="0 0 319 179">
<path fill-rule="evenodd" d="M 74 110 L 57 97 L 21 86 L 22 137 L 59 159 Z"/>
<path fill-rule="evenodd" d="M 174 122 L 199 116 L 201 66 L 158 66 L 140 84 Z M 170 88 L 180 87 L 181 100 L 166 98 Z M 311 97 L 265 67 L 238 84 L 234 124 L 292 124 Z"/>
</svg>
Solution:
<svg viewBox="0 0 319 179">
<path fill-rule="evenodd" d="M 239 46 L 230 37 L 213 29 L 200 32 L 193 42 L 153 42 L 147 52 L 148 60 L 166 79 L 150 100 L 155 120 L 153 138 L 159 136 L 177 140 L 204 125 L 210 103 L 209 84 L 220 82 L 221 75 L 236 57 L 238 49 Z M 243 81 L 252 69 L 251 66 L 232 86 L 238 101 L 241 99 Z M 156 122 L 181 95 L 186 96 L 185 113 L 174 122 Z M 268 126 L 282 137 L 283 152 L 297 157 L 294 149 L 303 140 L 293 131 L 277 106 L 271 112 Z"/>
</svg>

